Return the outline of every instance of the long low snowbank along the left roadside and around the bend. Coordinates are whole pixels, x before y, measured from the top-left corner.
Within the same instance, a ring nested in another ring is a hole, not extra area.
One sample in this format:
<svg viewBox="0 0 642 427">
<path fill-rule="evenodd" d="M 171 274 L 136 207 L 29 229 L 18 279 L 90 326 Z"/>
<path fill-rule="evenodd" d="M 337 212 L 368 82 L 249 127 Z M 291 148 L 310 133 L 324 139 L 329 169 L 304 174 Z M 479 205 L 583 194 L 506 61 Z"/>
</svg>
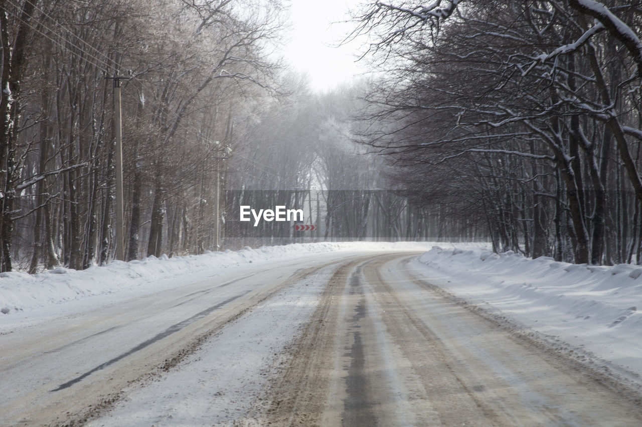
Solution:
<svg viewBox="0 0 642 427">
<path fill-rule="evenodd" d="M 429 244 L 413 242 L 332 242 L 285 246 L 245 247 L 240 251 L 209 252 L 204 255 L 149 256 L 130 262 L 114 261 L 103 267 L 76 271 L 58 267 L 39 274 L 12 271 L 0 273 L 0 314 L 31 310 L 62 301 L 108 294 L 121 289 L 154 283 L 187 273 L 225 268 L 257 261 L 291 258 L 331 251 L 377 249 L 426 250 Z"/>
</svg>

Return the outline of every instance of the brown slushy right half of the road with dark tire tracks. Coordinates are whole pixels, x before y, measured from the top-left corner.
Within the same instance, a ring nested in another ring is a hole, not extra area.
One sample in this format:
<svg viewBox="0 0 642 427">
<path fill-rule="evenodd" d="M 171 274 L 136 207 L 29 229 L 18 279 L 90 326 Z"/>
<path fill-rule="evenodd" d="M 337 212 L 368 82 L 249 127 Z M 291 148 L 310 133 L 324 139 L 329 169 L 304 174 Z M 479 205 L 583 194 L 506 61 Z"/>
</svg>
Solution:
<svg viewBox="0 0 642 427">
<path fill-rule="evenodd" d="M 435 292 L 408 260 L 336 271 L 270 389 L 265 424 L 642 425 L 639 406 Z"/>
</svg>

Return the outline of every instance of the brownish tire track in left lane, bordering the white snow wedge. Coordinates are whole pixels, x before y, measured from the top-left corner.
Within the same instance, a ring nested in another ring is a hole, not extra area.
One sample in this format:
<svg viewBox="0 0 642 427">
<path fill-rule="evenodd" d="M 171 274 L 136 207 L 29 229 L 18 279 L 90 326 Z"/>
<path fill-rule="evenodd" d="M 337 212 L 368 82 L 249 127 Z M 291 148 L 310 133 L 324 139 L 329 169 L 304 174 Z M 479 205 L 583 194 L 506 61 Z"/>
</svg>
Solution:
<svg viewBox="0 0 642 427">
<path fill-rule="evenodd" d="M 121 390 L 125 387 L 136 383 L 142 385 L 146 381 L 153 380 L 160 373 L 173 369 L 187 356 L 198 351 L 205 340 L 218 333 L 229 322 L 261 305 L 266 299 L 281 292 L 294 281 L 332 264 L 334 262 L 300 269 L 288 276 L 286 280 L 273 279 L 271 283 L 252 287 L 247 292 L 230 293 L 225 301 L 205 308 L 152 335 L 149 339 L 141 340 L 129 351 L 112 356 L 107 362 L 85 373 L 78 373 L 71 380 L 58 383 L 53 389 L 51 385 L 47 387 L 46 382 L 43 381 L 38 389 L 30 390 L 8 401 L 9 406 L 5 409 L 10 412 L 0 410 L 4 412 L 0 416 L 0 424 L 3 426 L 85 424 L 95 415 L 114 406 L 123 397 Z M 262 273 L 263 271 L 257 271 L 238 280 L 251 280 L 252 277 L 261 277 Z M 119 328 L 113 328 L 113 330 L 116 329 Z M 65 346 L 60 348 L 62 347 Z M 83 357 L 87 356 L 83 355 Z"/>
</svg>

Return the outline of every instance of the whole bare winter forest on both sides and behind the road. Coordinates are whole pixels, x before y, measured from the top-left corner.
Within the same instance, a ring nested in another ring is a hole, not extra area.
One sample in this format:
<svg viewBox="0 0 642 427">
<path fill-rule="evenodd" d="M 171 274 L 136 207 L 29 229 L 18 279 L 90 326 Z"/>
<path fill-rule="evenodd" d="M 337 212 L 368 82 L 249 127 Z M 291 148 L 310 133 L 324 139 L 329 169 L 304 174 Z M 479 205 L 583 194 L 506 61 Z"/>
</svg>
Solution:
<svg viewBox="0 0 642 427">
<path fill-rule="evenodd" d="M 0 271 L 325 240 L 640 260 L 639 1 L 364 2 L 372 72 L 323 93 L 279 57 L 286 6 L 0 0 Z"/>
</svg>

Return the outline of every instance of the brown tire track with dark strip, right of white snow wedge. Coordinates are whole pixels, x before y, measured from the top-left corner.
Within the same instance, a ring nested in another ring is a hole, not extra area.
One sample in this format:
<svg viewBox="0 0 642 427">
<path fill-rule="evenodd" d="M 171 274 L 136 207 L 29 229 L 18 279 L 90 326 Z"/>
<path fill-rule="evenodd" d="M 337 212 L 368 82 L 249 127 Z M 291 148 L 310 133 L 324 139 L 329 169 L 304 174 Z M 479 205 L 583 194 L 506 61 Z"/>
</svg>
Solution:
<svg viewBox="0 0 642 427">
<path fill-rule="evenodd" d="M 334 273 L 317 311 L 293 344 L 283 374 L 266 393 L 268 424 L 379 424 L 377 397 L 371 391 L 381 387 L 369 373 L 372 322 L 361 270 L 390 257 L 370 255 L 347 262 Z"/>
</svg>

